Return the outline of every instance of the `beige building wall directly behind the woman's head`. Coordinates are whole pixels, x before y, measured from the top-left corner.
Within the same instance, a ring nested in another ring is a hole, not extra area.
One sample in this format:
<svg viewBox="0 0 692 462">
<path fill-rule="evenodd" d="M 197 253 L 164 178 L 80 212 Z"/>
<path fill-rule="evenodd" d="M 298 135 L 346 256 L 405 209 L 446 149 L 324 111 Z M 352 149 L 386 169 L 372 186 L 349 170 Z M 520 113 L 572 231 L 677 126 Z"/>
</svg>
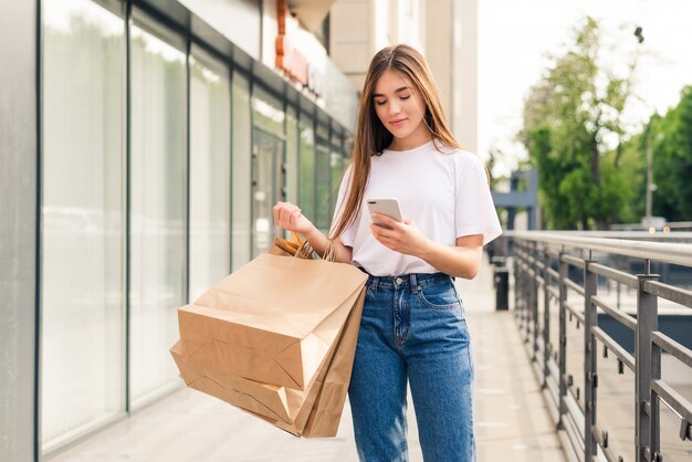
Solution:
<svg viewBox="0 0 692 462">
<path fill-rule="evenodd" d="M 423 52 L 452 132 L 472 151 L 478 138 L 478 0 L 337 0 L 332 59 L 363 88 L 373 55 L 407 43 Z"/>
</svg>

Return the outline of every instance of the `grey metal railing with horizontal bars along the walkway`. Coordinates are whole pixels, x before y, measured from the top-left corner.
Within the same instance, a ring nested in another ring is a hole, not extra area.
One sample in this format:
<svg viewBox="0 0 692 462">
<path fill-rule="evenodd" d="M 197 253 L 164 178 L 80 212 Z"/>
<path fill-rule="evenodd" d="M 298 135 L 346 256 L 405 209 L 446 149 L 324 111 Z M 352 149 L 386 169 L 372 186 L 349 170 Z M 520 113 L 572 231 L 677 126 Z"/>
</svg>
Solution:
<svg viewBox="0 0 692 462">
<path fill-rule="evenodd" d="M 630 440 L 635 460 L 663 460 L 661 405 L 672 410 L 680 421 L 674 438 L 684 448 L 675 454 L 683 454 L 680 460 L 692 460 L 686 459 L 692 454 L 692 403 L 661 378 L 662 351 L 692 370 L 692 350 L 659 330 L 659 301 L 674 304 L 679 311 L 692 315 L 685 309 L 692 308 L 689 288 L 692 276 L 689 283 L 682 284 L 688 285 L 685 288 L 661 282 L 659 275 L 651 273 L 652 264 L 671 263 L 685 271 L 692 269 L 692 244 L 617 240 L 604 234 L 599 238 L 547 232 L 507 234 L 513 249 L 514 315 L 570 459 L 627 460 L 612 448 L 608 437 L 610 429 L 598 419 L 599 377 L 614 374 L 602 366 L 599 368 L 597 348 L 600 344 L 604 357 L 608 357 L 609 351 L 615 355 L 617 374 L 625 374 L 626 368 L 635 374 L 635 406 L 627 414 L 627 419 L 635 422 Z M 604 260 L 604 256 L 640 259 L 643 272 L 630 274 L 597 259 Z M 606 294 L 599 293 L 600 287 L 612 284 L 618 285 L 617 306 Z M 620 285 L 636 292 L 636 313 L 619 307 Z M 599 326 L 599 316 L 604 315 L 633 332 L 633 354 Z M 583 326 L 583 339 L 580 335 L 568 336 L 568 324 L 576 329 Z M 555 328 L 557 332 L 552 332 Z M 692 329 L 689 335 L 692 338 Z M 577 356 L 575 363 L 583 377 L 575 377 L 577 372 L 568 370 L 568 351 Z M 668 427 L 667 435 L 672 433 Z M 673 459 L 667 456 L 667 462 Z"/>
</svg>

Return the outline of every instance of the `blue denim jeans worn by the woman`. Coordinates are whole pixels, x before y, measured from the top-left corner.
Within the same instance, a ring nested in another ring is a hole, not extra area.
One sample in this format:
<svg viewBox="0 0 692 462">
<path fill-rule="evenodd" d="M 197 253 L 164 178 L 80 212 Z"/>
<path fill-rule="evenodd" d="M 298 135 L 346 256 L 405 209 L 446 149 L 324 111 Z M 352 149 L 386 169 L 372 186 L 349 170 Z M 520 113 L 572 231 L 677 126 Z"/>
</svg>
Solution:
<svg viewBox="0 0 692 462">
<path fill-rule="evenodd" d="M 475 461 L 470 337 L 448 275 L 368 277 L 348 388 L 360 461 L 408 461 L 407 378 L 423 458 Z"/>
</svg>

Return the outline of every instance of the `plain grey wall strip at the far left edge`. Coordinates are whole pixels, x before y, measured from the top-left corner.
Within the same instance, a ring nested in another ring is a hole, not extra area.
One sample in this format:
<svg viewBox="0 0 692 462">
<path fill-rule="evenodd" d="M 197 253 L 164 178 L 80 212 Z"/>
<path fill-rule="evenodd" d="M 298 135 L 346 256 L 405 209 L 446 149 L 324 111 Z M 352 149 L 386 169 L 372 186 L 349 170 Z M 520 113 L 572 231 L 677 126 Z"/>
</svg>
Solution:
<svg viewBox="0 0 692 462">
<path fill-rule="evenodd" d="M 0 460 L 34 459 L 36 3 L 0 2 Z"/>
</svg>

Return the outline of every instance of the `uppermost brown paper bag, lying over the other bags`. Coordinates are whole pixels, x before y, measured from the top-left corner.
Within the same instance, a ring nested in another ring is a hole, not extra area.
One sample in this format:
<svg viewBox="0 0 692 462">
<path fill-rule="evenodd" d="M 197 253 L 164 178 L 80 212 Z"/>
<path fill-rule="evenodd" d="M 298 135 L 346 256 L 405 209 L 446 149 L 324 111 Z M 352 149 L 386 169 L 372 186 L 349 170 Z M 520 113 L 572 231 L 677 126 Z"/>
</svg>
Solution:
<svg viewBox="0 0 692 462">
<path fill-rule="evenodd" d="M 338 334 L 323 324 L 366 280 L 349 264 L 262 254 L 178 309 L 180 339 L 216 343 L 229 374 L 304 390 Z"/>
</svg>

